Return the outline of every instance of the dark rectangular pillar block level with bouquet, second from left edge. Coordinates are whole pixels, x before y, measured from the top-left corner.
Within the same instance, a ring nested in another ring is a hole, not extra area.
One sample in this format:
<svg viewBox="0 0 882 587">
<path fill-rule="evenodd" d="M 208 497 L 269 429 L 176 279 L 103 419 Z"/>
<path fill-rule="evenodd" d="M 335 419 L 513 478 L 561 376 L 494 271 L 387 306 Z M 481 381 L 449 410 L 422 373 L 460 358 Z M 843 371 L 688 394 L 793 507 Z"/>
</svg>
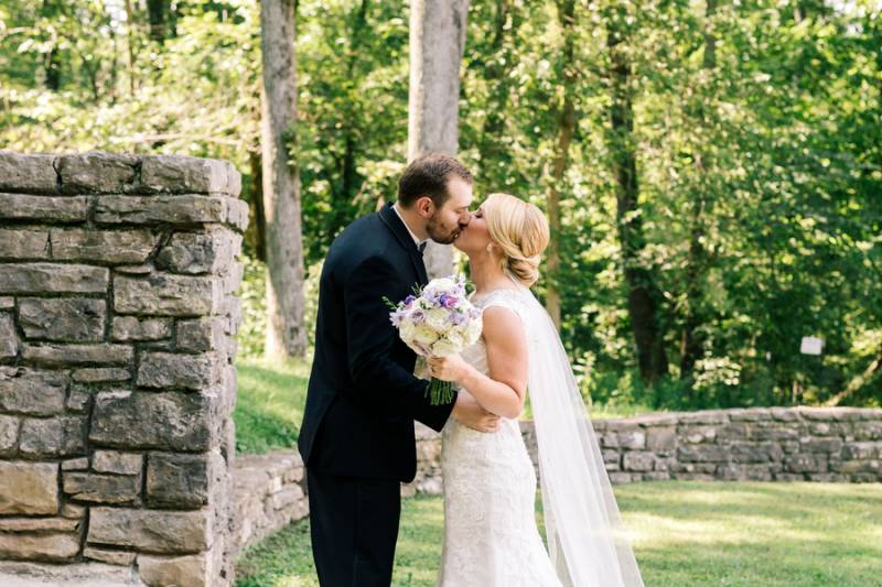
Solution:
<svg viewBox="0 0 882 587">
<path fill-rule="evenodd" d="M 104 339 L 106 314 L 104 300 L 19 298 L 19 324 L 28 338 L 98 343 Z"/>
</svg>

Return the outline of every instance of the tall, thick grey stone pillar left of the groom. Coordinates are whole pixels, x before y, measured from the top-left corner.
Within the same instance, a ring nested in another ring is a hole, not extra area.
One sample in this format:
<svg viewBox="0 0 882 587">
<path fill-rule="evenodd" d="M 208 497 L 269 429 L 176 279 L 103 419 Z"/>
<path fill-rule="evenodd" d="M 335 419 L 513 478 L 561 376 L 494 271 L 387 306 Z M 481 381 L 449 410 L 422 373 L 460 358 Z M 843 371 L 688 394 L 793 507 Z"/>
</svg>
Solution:
<svg viewBox="0 0 882 587">
<path fill-rule="evenodd" d="M 233 583 L 240 184 L 0 152 L 0 559 Z"/>
</svg>

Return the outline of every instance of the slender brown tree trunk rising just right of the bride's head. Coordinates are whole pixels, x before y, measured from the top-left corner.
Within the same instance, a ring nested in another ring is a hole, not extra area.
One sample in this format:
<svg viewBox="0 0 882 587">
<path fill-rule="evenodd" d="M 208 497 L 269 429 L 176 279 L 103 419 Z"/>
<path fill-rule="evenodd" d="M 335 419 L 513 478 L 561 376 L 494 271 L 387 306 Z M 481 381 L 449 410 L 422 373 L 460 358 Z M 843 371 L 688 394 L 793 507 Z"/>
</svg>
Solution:
<svg viewBox="0 0 882 587">
<path fill-rule="evenodd" d="M 546 265 L 546 309 L 551 316 L 555 326 L 560 329 L 560 186 L 569 166 L 569 152 L 572 134 L 576 130 L 576 64 L 573 63 L 573 29 L 576 25 L 574 0 L 558 1 L 558 20 L 563 31 L 562 72 L 563 72 L 563 104 L 558 113 L 556 131 L 557 144 L 555 145 L 553 170 L 551 184 L 548 188 L 548 224 L 551 229 L 551 240 L 548 243 L 548 263 Z"/>
</svg>

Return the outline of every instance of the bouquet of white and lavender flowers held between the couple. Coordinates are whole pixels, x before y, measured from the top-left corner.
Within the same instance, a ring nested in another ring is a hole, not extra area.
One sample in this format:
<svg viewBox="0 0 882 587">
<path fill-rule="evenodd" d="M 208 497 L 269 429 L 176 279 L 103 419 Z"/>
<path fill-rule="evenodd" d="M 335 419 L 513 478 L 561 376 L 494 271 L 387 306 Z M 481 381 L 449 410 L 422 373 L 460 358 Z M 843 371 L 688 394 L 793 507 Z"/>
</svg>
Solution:
<svg viewBox="0 0 882 587">
<path fill-rule="evenodd" d="M 463 276 L 434 279 L 398 304 L 384 300 L 401 340 L 420 357 L 455 355 L 481 336 L 481 311 L 466 298 Z M 432 405 L 450 403 L 453 383 L 432 378 L 427 393 Z"/>
</svg>

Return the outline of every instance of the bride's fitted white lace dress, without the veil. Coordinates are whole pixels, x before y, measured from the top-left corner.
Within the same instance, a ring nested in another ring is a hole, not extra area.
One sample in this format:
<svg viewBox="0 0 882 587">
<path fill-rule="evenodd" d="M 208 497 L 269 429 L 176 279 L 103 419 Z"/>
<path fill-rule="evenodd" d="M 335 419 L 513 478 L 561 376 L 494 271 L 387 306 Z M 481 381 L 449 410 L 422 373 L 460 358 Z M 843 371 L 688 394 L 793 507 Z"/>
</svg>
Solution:
<svg viewBox="0 0 882 587">
<path fill-rule="evenodd" d="M 473 303 L 502 306 L 526 320 L 518 295 L 495 290 Z M 488 374 L 482 339 L 462 357 Z M 444 545 L 438 586 L 560 586 L 536 525 L 536 472 L 518 421 L 501 418 L 499 430 L 488 434 L 451 418 L 441 442 Z"/>
</svg>

